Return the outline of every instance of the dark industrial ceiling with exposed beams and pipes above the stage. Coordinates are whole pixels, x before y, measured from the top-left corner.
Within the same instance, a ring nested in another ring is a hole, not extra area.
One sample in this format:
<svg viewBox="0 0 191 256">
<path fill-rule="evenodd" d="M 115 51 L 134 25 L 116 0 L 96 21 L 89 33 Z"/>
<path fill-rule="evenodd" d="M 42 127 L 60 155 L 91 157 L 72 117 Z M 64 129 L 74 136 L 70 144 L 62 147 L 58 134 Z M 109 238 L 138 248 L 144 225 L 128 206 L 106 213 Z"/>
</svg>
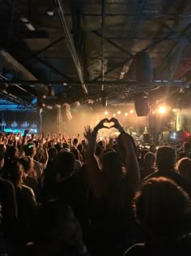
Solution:
<svg viewBox="0 0 191 256">
<path fill-rule="evenodd" d="M 189 93 L 190 0 L 0 2 L 0 110 Z"/>
</svg>

